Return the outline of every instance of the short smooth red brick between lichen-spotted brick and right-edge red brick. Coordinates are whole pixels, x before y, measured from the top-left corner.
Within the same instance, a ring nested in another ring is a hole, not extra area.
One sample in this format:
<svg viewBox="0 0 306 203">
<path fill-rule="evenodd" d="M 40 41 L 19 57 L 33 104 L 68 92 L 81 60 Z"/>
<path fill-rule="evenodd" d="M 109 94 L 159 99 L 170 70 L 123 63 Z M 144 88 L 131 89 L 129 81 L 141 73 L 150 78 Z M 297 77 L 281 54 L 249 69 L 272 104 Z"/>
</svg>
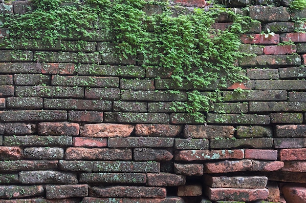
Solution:
<svg viewBox="0 0 306 203">
<path fill-rule="evenodd" d="M 277 160 L 277 150 L 272 149 L 245 149 L 245 159 L 258 159 L 258 160 Z"/>
</svg>

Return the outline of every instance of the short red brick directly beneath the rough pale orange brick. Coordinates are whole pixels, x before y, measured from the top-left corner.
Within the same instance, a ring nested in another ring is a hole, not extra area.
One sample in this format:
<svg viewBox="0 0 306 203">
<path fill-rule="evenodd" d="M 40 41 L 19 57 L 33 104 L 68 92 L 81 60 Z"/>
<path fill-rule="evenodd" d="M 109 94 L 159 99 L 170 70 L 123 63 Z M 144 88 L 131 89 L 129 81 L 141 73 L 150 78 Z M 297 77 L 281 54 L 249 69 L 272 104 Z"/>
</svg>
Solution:
<svg viewBox="0 0 306 203">
<path fill-rule="evenodd" d="M 107 139 L 106 138 L 81 138 L 81 137 L 74 137 L 73 139 L 73 146 L 79 147 L 103 147 L 107 146 Z"/>
</svg>

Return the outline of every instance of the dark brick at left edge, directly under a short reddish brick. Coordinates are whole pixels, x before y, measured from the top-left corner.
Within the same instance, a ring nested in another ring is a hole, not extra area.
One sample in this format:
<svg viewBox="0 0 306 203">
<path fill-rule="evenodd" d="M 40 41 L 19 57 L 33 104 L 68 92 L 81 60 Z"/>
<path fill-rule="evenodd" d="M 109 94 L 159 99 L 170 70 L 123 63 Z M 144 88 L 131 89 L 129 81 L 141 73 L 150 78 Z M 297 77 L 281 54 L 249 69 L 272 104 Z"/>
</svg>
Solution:
<svg viewBox="0 0 306 203">
<path fill-rule="evenodd" d="M 48 160 L 18 160 L 18 161 L 4 161 L 0 162 L 0 171 L 27 171 L 27 170 L 50 170 L 57 169 L 58 161 Z"/>
</svg>

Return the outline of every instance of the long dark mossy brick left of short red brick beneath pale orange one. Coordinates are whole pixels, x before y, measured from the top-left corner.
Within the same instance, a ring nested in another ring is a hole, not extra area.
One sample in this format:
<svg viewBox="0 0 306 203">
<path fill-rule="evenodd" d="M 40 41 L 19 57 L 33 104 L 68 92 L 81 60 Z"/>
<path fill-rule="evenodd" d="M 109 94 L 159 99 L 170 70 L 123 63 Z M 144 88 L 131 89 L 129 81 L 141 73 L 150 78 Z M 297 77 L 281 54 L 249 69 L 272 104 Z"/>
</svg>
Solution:
<svg viewBox="0 0 306 203">
<path fill-rule="evenodd" d="M 4 136 L 3 145 L 6 146 L 71 146 L 70 136 Z"/>
</svg>

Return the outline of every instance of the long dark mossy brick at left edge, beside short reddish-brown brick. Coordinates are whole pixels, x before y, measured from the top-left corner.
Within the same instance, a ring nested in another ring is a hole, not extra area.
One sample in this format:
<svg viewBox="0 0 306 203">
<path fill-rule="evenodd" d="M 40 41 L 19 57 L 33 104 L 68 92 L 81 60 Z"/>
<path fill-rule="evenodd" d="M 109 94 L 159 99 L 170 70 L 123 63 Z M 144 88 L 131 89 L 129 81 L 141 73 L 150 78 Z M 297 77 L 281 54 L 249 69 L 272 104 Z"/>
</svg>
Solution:
<svg viewBox="0 0 306 203">
<path fill-rule="evenodd" d="M 67 112 L 58 110 L 20 110 L 0 112 L 0 121 L 66 121 Z"/>
</svg>

